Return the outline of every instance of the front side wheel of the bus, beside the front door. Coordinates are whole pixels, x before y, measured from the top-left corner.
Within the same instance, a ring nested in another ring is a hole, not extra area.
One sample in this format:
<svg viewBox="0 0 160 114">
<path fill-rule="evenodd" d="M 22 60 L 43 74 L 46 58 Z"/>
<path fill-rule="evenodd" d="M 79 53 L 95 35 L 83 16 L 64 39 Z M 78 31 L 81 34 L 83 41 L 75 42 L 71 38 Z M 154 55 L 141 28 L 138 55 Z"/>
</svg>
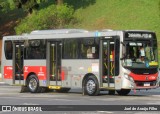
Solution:
<svg viewBox="0 0 160 114">
<path fill-rule="evenodd" d="M 84 82 L 84 92 L 89 96 L 96 96 L 99 94 L 99 84 L 95 76 L 89 76 Z"/>
</svg>

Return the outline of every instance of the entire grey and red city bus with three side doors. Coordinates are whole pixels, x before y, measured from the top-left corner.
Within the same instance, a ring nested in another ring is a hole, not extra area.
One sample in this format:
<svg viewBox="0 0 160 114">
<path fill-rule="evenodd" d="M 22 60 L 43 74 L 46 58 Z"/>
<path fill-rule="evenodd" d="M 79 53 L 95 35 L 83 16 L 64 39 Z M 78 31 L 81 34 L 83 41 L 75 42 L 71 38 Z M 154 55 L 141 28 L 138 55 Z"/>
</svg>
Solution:
<svg viewBox="0 0 160 114">
<path fill-rule="evenodd" d="M 31 93 L 79 88 L 128 95 L 158 87 L 155 32 L 147 30 L 36 30 L 4 36 L 1 70 L 4 82 Z"/>
</svg>

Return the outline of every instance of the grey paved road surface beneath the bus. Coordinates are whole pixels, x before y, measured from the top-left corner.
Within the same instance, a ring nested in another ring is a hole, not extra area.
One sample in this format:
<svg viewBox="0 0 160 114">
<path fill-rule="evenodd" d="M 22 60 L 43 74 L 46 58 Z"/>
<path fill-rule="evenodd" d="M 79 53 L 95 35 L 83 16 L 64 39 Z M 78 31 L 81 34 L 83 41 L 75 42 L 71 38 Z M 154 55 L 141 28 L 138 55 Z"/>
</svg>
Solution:
<svg viewBox="0 0 160 114">
<path fill-rule="evenodd" d="M 0 85 L 0 105 L 160 105 L 160 88 L 153 90 L 131 91 L 128 96 L 108 95 L 107 92 L 101 92 L 99 96 L 82 96 L 81 90 L 72 89 L 69 93 L 20 93 L 20 87 Z M 112 106 L 115 108 L 116 106 Z M 0 112 L 11 114 L 11 112 Z M 13 113 L 13 112 L 12 112 Z M 16 112 L 17 114 L 20 112 Z M 22 113 L 22 112 L 21 112 Z M 28 113 L 28 112 L 23 112 Z M 32 112 L 41 114 L 40 112 Z M 52 113 L 53 112 L 47 112 Z M 74 114 L 75 112 L 54 112 L 58 114 Z M 94 112 L 76 112 L 80 114 L 140 114 L 139 111 L 94 111 Z M 144 112 L 143 112 L 144 113 Z M 150 112 L 145 112 L 150 113 Z M 152 113 L 159 113 L 158 111 Z M 43 113 L 42 113 L 43 114 Z"/>
</svg>

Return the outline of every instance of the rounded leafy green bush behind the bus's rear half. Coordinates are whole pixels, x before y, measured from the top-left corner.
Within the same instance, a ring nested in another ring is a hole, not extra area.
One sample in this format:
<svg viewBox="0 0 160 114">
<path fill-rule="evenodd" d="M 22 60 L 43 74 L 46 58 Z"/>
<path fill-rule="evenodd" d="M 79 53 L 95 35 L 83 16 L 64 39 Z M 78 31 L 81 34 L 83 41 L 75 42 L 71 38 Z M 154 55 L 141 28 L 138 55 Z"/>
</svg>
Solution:
<svg viewBox="0 0 160 114">
<path fill-rule="evenodd" d="M 73 8 L 66 4 L 50 5 L 23 19 L 15 28 L 16 33 L 22 34 L 33 30 L 64 28 L 74 18 L 73 12 Z"/>
</svg>

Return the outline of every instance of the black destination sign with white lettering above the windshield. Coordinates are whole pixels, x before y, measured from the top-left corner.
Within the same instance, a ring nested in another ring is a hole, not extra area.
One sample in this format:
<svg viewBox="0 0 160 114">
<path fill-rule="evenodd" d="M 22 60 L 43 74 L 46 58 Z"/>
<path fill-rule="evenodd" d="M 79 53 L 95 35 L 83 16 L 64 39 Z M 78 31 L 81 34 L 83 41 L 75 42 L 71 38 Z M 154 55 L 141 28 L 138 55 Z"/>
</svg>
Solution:
<svg viewBox="0 0 160 114">
<path fill-rule="evenodd" d="M 155 38 L 153 33 L 146 32 L 126 32 L 125 38 Z"/>
</svg>

